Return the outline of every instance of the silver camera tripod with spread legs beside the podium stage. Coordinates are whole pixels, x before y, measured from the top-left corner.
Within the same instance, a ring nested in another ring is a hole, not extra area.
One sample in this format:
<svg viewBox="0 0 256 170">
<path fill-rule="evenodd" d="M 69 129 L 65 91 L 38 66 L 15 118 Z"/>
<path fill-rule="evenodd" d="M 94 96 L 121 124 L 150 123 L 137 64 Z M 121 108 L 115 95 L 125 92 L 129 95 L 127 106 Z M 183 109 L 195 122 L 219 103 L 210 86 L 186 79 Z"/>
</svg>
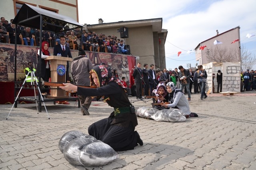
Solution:
<svg viewBox="0 0 256 170">
<path fill-rule="evenodd" d="M 26 75 L 26 78 L 25 78 L 25 80 L 24 80 L 24 82 L 23 82 L 23 84 L 22 84 L 22 86 L 21 86 L 21 88 L 20 88 L 20 91 L 19 91 L 18 96 L 16 97 L 16 99 L 15 99 L 15 101 L 14 101 L 14 104 L 17 102 L 17 99 L 18 99 L 18 97 L 19 97 L 19 95 L 20 95 L 20 92 L 21 92 L 22 88 L 23 88 L 24 85 L 25 85 L 25 82 L 26 82 L 26 80 L 27 80 L 27 78 L 28 78 L 28 75 L 31 74 L 31 82 L 30 82 L 30 83 L 31 83 L 31 85 L 34 87 L 34 95 L 35 95 L 35 101 L 36 101 L 36 109 L 37 109 L 37 114 L 38 114 L 38 106 L 37 106 L 37 100 L 38 100 L 38 99 L 36 99 L 36 90 L 35 90 L 35 85 L 37 85 L 37 87 L 38 87 L 38 83 L 37 83 L 37 81 L 36 81 L 36 76 L 35 76 L 35 73 L 34 73 L 33 68 L 30 68 L 30 71 L 31 71 L 31 73 L 28 72 L 28 74 Z M 35 78 L 35 81 L 34 81 L 34 78 Z M 36 84 L 35 84 L 35 82 L 36 82 Z M 42 96 L 42 94 L 41 94 L 41 91 L 40 91 L 40 88 L 39 88 L 39 87 L 38 87 L 38 91 L 39 91 L 39 94 L 40 94 L 40 96 L 41 96 L 41 99 L 42 99 L 42 101 L 43 101 L 43 103 L 44 103 L 44 99 L 43 99 L 43 96 Z M 12 108 L 13 108 L 14 104 L 12 105 Z M 7 116 L 7 118 L 6 118 L 6 120 L 8 119 L 8 117 L 9 117 L 11 111 L 12 111 L 12 108 L 11 108 L 11 110 L 10 110 L 10 112 L 9 112 L 9 114 L 8 114 L 8 116 Z M 45 110 L 46 110 L 48 119 L 50 119 L 45 104 L 44 104 L 44 108 L 45 108 Z"/>
</svg>

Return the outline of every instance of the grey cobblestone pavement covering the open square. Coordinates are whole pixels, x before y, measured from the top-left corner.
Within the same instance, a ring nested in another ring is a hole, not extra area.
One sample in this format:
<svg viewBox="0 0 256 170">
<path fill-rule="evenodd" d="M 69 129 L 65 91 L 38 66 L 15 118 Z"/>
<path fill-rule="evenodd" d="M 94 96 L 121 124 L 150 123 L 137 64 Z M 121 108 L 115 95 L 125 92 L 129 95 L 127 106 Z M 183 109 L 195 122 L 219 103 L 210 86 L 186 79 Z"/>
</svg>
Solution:
<svg viewBox="0 0 256 170">
<path fill-rule="evenodd" d="M 0 105 L 0 169 L 256 170 L 256 93 L 191 97 L 190 109 L 199 117 L 175 123 L 138 118 L 136 130 L 144 145 L 118 152 L 119 158 L 102 167 L 70 164 L 58 142 L 67 131 L 88 134 L 92 122 L 113 111 L 106 103 L 92 102 L 90 115 L 83 116 L 75 102 L 48 102 L 50 119 L 44 108 L 37 114 L 36 104 L 18 104 L 11 112 L 12 105 Z M 129 99 L 137 109 L 151 103 Z"/>
</svg>

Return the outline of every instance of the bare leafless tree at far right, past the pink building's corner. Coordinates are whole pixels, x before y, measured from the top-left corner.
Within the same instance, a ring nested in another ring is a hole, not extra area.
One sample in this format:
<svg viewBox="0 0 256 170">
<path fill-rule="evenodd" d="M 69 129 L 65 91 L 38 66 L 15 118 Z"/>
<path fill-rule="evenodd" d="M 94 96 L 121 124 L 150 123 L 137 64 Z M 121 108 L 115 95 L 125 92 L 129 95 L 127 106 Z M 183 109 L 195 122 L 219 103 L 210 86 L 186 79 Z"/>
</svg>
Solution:
<svg viewBox="0 0 256 170">
<path fill-rule="evenodd" d="M 244 46 L 241 48 L 241 63 L 242 70 L 251 70 L 252 67 L 256 64 L 256 56 L 252 55 L 252 53 L 248 51 Z"/>
</svg>

